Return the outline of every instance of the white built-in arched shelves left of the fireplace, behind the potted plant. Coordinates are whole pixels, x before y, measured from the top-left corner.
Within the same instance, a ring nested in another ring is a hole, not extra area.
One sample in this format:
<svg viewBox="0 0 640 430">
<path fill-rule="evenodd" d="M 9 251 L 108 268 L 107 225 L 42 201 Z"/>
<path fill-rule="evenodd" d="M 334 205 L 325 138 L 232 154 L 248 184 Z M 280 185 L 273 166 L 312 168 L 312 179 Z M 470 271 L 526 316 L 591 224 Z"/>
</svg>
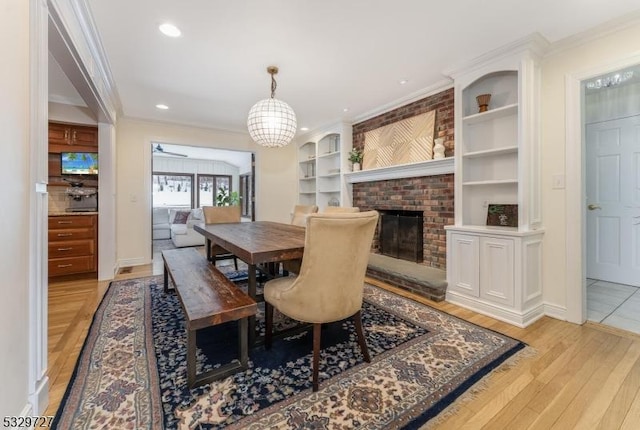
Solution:
<svg viewBox="0 0 640 430">
<path fill-rule="evenodd" d="M 351 125 L 336 124 L 302 136 L 298 145 L 298 203 L 351 206 L 351 184 L 343 180 L 350 163 Z"/>
</svg>

